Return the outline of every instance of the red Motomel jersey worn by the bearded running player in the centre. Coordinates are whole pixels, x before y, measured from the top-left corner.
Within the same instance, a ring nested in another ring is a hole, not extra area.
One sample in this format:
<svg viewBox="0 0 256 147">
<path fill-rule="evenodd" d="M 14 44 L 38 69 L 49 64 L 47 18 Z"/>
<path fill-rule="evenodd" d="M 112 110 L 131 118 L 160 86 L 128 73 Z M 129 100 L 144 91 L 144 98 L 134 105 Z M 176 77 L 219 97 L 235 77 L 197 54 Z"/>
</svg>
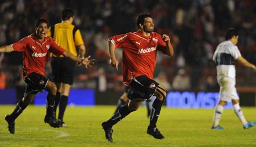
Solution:
<svg viewBox="0 0 256 147">
<path fill-rule="evenodd" d="M 158 45 L 166 47 L 166 43 L 162 40 L 160 34 L 153 32 L 147 37 L 137 31 L 110 37 L 108 40 L 115 45 L 115 48 L 123 48 L 124 84 L 129 85 L 132 78 L 140 75 L 153 79 L 156 65 L 156 48 Z"/>
</svg>

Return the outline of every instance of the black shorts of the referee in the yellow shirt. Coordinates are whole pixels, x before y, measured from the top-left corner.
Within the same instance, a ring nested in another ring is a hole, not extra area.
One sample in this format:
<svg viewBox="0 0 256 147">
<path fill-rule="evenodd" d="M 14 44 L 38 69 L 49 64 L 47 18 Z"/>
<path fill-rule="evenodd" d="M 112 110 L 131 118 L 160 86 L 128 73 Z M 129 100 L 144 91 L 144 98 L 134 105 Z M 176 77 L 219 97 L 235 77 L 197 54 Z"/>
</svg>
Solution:
<svg viewBox="0 0 256 147">
<path fill-rule="evenodd" d="M 73 85 L 76 62 L 69 58 L 51 59 L 51 72 L 56 83 L 67 83 Z"/>
</svg>

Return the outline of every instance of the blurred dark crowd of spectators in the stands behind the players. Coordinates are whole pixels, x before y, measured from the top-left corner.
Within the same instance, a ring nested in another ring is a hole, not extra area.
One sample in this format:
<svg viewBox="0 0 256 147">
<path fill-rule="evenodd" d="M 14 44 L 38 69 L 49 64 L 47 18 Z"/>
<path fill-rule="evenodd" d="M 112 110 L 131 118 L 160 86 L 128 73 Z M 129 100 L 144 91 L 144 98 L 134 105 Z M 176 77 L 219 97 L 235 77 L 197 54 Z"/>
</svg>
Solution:
<svg viewBox="0 0 256 147">
<path fill-rule="evenodd" d="M 155 71 L 155 77 L 164 79 L 169 90 L 218 90 L 212 57 L 216 46 L 225 39 L 225 30 L 231 26 L 239 31 L 241 54 L 256 64 L 253 0 L 2 0 L 0 45 L 12 44 L 31 34 L 37 18 L 47 19 L 50 25 L 60 22 L 64 8 L 75 11 L 74 24 L 81 30 L 86 54 L 95 58 L 93 68 L 76 69 L 74 87 L 102 89 L 104 86 L 99 85 L 106 85 L 105 89 L 123 90 L 121 70 L 116 72 L 108 65 L 107 38 L 136 31 L 135 16 L 141 12 L 151 13 L 155 31 L 168 34 L 172 40 L 174 56 L 160 53 Z M 122 50 L 116 52 L 121 60 Z M 0 55 L 0 81 L 4 77 L 7 88 L 22 84 L 21 64 L 22 53 Z M 46 68 L 50 77 L 49 65 Z M 106 80 L 99 80 L 102 76 Z M 255 87 L 256 76 L 251 69 L 238 65 L 237 85 Z"/>
</svg>

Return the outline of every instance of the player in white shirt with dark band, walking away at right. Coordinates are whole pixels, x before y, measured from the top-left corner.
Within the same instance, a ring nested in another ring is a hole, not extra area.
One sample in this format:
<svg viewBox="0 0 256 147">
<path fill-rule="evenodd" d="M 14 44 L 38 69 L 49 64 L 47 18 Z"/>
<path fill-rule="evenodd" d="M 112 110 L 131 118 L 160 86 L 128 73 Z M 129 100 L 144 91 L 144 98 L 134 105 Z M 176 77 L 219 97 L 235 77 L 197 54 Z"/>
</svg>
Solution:
<svg viewBox="0 0 256 147">
<path fill-rule="evenodd" d="M 234 113 L 242 122 L 244 129 L 255 125 L 255 122 L 247 122 L 239 105 L 239 96 L 235 88 L 235 65 L 234 61 L 239 61 L 246 67 L 251 67 L 256 71 L 256 67 L 242 57 L 238 47 L 238 32 L 230 28 L 226 31 L 226 41 L 220 43 L 214 52 L 213 61 L 216 63 L 217 79 L 220 86 L 220 100 L 215 107 L 212 129 L 224 129 L 220 127 L 219 121 L 224 106 L 228 101 L 232 101 Z"/>
</svg>

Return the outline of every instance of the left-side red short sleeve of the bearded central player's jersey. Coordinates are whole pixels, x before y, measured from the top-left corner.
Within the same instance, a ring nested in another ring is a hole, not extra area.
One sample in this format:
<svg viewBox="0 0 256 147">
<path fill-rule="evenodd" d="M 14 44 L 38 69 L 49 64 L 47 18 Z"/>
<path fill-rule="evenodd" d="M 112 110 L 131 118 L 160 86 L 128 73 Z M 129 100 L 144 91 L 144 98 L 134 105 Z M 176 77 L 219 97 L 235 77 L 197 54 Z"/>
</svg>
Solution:
<svg viewBox="0 0 256 147">
<path fill-rule="evenodd" d="M 115 48 L 122 47 L 124 43 L 130 38 L 130 33 L 120 34 L 117 36 L 110 37 L 108 41 L 115 45 Z"/>
</svg>

